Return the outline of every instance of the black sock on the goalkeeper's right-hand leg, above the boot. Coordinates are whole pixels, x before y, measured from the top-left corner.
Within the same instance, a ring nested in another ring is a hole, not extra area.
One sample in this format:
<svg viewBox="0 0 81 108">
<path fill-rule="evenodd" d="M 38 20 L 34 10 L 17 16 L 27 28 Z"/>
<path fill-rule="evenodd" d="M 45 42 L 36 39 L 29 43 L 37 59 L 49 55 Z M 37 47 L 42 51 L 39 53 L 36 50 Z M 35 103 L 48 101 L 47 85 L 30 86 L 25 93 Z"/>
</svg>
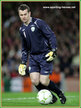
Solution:
<svg viewBox="0 0 81 108">
<path fill-rule="evenodd" d="M 49 90 L 55 92 L 57 95 L 59 95 L 62 91 L 57 87 L 57 85 L 50 80 L 48 85 Z"/>
</svg>

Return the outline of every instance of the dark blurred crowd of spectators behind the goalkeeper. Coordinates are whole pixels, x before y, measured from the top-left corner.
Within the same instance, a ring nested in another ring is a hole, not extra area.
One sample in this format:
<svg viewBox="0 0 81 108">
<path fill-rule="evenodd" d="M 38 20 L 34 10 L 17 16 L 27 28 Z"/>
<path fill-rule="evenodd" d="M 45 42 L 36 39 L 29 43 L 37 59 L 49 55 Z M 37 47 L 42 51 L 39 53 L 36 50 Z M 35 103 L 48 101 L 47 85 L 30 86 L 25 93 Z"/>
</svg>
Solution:
<svg viewBox="0 0 81 108">
<path fill-rule="evenodd" d="M 22 2 L 2 3 L 2 77 L 19 76 L 21 40 L 17 7 Z M 78 2 L 23 2 L 30 6 L 32 17 L 43 19 L 54 31 L 58 43 L 58 56 L 54 69 L 65 77 L 79 76 L 79 3 Z M 74 9 L 49 9 L 43 6 L 75 6 Z M 55 68 L 57 67 L 57 68 Z"/>
</svg>

